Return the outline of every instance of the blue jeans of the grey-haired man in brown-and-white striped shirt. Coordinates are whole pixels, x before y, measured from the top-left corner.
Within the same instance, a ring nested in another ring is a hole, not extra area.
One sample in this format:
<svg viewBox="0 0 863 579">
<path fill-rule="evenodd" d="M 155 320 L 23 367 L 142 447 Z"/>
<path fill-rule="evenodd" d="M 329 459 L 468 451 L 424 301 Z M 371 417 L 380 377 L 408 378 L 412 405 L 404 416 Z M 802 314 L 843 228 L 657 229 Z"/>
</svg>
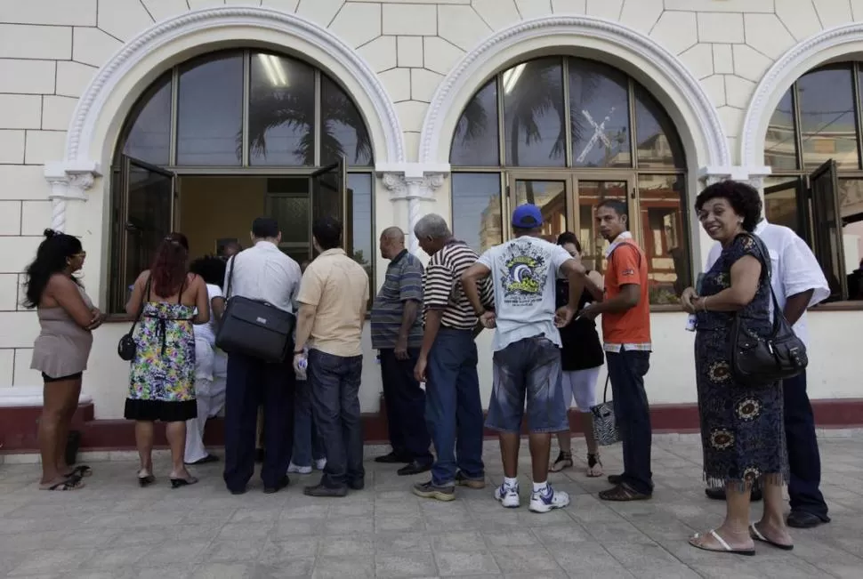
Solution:
<svg viewBox="0 0 863 579">
<path fill-rule="evenodd" d="M 440 328 L 425 377 L 425 422 L 438 455 L 432 483 L 454 485 L 456 468 L 466 478 L 485 478 L 477 346 L 471 330 Z"/>
</svg>

